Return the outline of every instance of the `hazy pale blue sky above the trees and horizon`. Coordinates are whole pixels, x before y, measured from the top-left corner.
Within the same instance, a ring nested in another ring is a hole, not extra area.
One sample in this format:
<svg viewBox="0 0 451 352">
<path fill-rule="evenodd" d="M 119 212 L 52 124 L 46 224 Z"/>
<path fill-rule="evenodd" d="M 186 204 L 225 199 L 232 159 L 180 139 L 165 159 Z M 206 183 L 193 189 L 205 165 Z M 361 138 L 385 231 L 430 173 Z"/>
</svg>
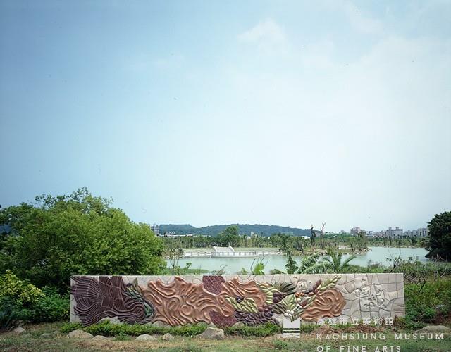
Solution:
<svg viewBox="0 0 451 352">
<path fill-rule="evenodd" d="M 451 1 L 0 1 L 0 204 L 382 230 L 451 210 Z"/>
</svg>

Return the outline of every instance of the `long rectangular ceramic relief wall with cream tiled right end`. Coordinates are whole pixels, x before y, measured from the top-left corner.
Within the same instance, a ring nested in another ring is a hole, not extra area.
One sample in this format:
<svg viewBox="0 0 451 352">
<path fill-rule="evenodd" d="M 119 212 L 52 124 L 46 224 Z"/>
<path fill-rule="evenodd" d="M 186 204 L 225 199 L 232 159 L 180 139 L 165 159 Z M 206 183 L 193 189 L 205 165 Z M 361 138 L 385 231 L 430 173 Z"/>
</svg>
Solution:
<svg viewBox="0 0 451 352">
<path fill-rule="evenodd" d="M 218 327 L 404 315 L 402 274 L 73 276 L 70 321 Z"/>
</svg>

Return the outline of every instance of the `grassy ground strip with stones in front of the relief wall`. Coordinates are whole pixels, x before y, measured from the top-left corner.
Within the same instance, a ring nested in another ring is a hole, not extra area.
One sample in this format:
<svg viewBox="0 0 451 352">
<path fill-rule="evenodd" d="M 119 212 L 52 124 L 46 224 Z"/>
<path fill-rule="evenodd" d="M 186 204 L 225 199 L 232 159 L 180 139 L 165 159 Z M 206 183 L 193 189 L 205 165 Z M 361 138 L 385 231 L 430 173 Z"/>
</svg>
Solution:
<svg viewBox="0 0 451 352">
<path fill-rule="evenodd" d="M 134 337 L 121 335 L 121 337 L 109 337 L 104 341 L 92 339 L 68 339 L 64 335 L 52 339 L 43 339 L 40 334 L 53 332 L 60 329 L 62 323 L 39 324 L 25 326 L 31 337 L 15 336 L 11 332 L 0 334 L 0 351 L 319 351 L 319 346 L 326 352 L 340 351 L 340 346 L 345 346 L 340 352 L 348 352 L 347 346 L 366 346 L 366 351 L 451 351 L 451 337 L 443 340 L 395 340 L 393 332 L 385 332 L 385 339 L 378 340 L 319 340 L 316 334 L 302 334 L 301 339 L 278 339 L 269 337 L 239 337 L 227 336 L 223 341 L 202 340 L 198 337 L 176 336 L 173 341 L 135 341 Z M 378 348 L 378 349 L 376 349 Z M 362 348 L 359 348 L 362 352 Z"/>
</svg>

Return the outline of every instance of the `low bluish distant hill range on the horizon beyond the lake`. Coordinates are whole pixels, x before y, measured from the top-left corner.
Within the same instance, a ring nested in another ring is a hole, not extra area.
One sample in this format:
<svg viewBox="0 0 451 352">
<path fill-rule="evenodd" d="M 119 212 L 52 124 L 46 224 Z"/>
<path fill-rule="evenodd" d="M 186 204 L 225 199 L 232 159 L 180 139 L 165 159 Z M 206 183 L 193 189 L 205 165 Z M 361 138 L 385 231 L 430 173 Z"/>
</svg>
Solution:
<svg viewBox="0 0 451 352">
<path fill-rule="evenodd" d="M 248 225 L 248 224 L 230 224 L 230 225 L 212 225 L 204 227 L 194 227 L 191 225 L 162 224 L 160 225 L 160 234 L 164 232 L 175 232 L 176 234 L 208 234 L 216 236 L 226 230 L 228 226 L 236 225 L 240 229 L 240 234 L 259 234 L 261 236 L 270 236 L 278 232 L 288 232 L 295 236 L 310 236 L 310 230 L 298 229 L 296 227 L 277 226 L 277 225 Z"/>
</svg>

